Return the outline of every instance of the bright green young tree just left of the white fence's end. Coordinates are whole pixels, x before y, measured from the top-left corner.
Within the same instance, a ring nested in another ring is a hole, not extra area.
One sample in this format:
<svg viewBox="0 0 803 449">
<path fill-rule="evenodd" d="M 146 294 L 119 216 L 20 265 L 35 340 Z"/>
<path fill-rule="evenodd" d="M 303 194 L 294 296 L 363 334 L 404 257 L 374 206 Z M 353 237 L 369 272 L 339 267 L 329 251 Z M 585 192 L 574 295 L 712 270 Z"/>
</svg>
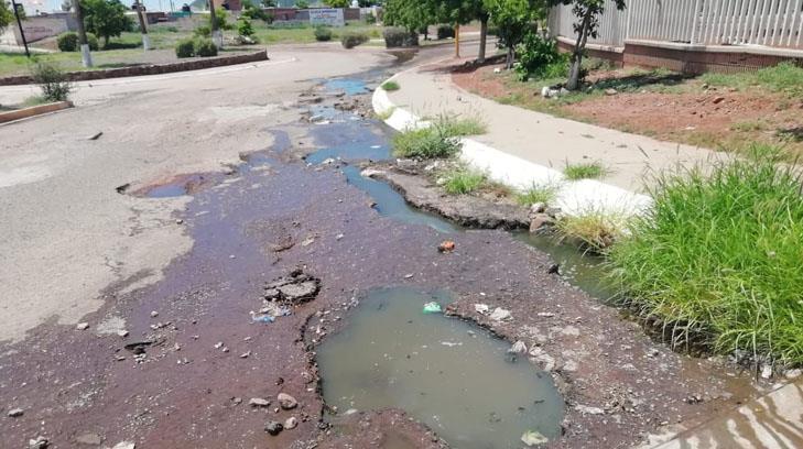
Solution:
<svg viewBox="0 0 803 449">
<path fill-rule="evenodd" d="M 539 0 L 485 0 L 493 24 L 499 29 L 499 45 L 508 50 L 506 68 L 513 66 L 516 46 L 533 28 L 533 21 L 542 17 L 545 6 Z"/>
</svg>

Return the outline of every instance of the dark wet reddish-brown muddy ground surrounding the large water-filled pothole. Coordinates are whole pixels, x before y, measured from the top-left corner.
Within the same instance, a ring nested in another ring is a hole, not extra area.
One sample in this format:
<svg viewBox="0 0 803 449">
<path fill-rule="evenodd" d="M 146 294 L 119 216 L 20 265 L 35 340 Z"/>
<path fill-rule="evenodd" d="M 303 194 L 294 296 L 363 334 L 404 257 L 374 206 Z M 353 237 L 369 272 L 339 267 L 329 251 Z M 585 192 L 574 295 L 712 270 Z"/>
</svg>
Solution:
<svg viewBox="0 0 803 449">
<path fill-rule="evenodd" d="M 290 162 L 286 142 L 292 151 L 314 146 L 311 125 L 279 129 L 287 140 L 264 153 L 270 169 L 236 171 L 196 190 L 175 217 L 195 243 L 161 282 L 122 293 L 148 275 L 139 273 L 109 286 L 105 306 L 83 318 L 86 330 L 46 322 L 0 347 L 2 447 L 26 447 L 36 436 L 54 448 L 77 447 L 87 434 L 102 446 L 143 448 L 444 447 L 398 410 L 321 420 L 311 351 L 344 321 L 327 317 L 345 317 L 360 292 L 392 285 L 447 288 L 456 314 L 527 343 L 566 402 L 564 435 L 552 447 L 629 447 L 757 394 L 728 365 L 655 344 L 616 309 L 549 274 L 553 261 L 508 232 L 455 233 L 456 249 L 440 253 L 440 232 L 383 217 L 337 168 Z M 316 299 L 274 322 L 253 322 L 263 285 L 296 267 L 321 280 Z M 476 304 L 512 318 L 492 320 Z M 124 349 L 141 341 L 158 343 L 143 354 Z M 248 405 L 252 397 L 275 404 L 281 392 L 299 407 Z M 6 416 L 17 407 L 22 416 Z M 268 420 L 290 416 L 296 428 L 263 431 Z"/>
</svg>

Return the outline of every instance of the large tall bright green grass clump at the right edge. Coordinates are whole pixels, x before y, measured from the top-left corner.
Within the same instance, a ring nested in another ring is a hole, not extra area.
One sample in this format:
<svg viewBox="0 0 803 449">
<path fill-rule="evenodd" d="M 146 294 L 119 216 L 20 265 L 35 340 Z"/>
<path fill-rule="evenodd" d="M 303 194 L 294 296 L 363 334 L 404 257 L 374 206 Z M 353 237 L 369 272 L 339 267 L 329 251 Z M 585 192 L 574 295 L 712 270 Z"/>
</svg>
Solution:
<svg viewBox="0 0 803 449">
<path fill-rule="evenodd" d="M 780 150 L 751 155 L 662 176 L 609 251 L 611 277 L 674 346 L 801 365 L 803 185 Z"/>
</svg>

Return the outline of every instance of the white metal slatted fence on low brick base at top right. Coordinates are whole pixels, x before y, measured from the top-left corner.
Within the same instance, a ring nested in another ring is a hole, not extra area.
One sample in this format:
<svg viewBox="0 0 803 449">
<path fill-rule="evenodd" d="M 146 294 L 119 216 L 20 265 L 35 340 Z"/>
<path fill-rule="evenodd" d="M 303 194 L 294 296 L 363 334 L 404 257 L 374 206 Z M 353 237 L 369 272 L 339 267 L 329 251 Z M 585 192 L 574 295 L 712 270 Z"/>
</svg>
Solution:
<svg viewBox="0 0 803 449">
<path fill-rule="evenodd" d="M 616 9 L 605 1 L 593 44 L 623 46 L 625 40 L 702 45 L 764 45 L 803 50 L 803 0 L 630 0 Z M 577 19 L 560 6 L 550 14 L 555 35 L 575 37 Z"/>
</svg>

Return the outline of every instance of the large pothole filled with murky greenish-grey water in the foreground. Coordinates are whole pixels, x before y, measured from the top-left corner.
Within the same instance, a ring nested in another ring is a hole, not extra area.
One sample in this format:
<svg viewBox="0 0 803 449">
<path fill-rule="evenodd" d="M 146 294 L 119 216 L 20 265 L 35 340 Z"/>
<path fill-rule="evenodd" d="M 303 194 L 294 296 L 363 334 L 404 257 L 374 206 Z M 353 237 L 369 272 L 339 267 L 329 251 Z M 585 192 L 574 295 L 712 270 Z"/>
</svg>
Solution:
<svg viewBox="0 0 803 449">
<path fill-rule="evenodd" d="M 564 404 L 550 374 L 486 329 L 422 311 L 452 300 L 446 292 L 370 292 L 318 348 L 326 404 L 404 409 L 456 448 L 520 448 L 528 431 L 558 437 Z"/>
</svg>

